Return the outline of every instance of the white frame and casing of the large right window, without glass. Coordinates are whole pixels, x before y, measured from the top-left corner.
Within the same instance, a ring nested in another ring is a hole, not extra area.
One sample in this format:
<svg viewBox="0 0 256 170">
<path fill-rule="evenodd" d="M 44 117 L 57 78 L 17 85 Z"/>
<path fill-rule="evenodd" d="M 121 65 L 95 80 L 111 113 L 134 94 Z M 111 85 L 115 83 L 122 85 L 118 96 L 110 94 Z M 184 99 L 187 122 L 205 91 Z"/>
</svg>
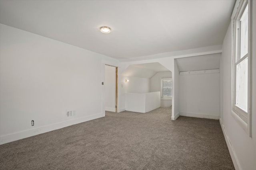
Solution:
<svg viewBox="0 0 256 170">
<path fill-rule="evenodd" d="M 240 56 L 240 18 L 248 4 L 248 53 Z M 232 13 L 232 110 L 233 117 L 242 128 L 252 137 L 252 1 L 237 0 Z M 237 36 L 238 35 L 238 36 Z M 248 57 L 248 109 L 247 112 L 236 105 L 236 66 Z"/>
</svg>

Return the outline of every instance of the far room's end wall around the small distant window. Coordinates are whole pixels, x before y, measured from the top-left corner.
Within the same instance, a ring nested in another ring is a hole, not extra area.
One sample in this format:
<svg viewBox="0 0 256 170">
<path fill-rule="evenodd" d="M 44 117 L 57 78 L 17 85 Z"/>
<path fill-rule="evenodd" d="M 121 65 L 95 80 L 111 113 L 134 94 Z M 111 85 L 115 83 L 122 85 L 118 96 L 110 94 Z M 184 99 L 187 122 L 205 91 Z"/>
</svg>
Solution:
<svg viewBox="0 0 256 170">
<path fill-rule="evenodd" d="M 150 92 L 159 92 L 161 91 L 161 78 L 172 78 L 172 72 L 157 72 L 152 78 L 150 78 Z M 161 107 L 170 107 L 172 106 L 172 99 L 164 100 L 161 98 Z"/>
</svg>

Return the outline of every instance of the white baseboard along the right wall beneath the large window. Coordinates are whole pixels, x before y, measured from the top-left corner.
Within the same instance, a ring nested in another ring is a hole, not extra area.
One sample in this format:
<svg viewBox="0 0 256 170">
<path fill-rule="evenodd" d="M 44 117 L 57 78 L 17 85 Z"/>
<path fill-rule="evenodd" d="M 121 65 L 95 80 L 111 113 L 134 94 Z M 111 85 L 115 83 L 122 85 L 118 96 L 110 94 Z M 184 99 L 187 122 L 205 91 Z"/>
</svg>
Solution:
<svg viewBox="0 0 256 170">
<path fill-rule="evenodd" d="M 226 132 L 226 129 L 224 127 L 224 124 L 222 123 L 222 120 L 220 118 L 220 126 L 221 126 L 221 129 L 223 131 L 223 134 L 224 134 L 224 137 L 225 137 L 225 141 L 227 143 L 227 146 L 228 146 L 228 151 L 230 153 L 230 156 L 231 156 L 231 159 L 232 159 L 232 162 L 234 164 L 234 167 L 236 170 L 242 170 L 239 162 L 238 162 L 238 159 L 237 159 L 237 156 L 236 156 L 236 152 L 234 151 L 233 147 L 232 147 L 232 144 L 229 140 L 229 137 L 228 137 L 228 134 Z"/>
</svg>

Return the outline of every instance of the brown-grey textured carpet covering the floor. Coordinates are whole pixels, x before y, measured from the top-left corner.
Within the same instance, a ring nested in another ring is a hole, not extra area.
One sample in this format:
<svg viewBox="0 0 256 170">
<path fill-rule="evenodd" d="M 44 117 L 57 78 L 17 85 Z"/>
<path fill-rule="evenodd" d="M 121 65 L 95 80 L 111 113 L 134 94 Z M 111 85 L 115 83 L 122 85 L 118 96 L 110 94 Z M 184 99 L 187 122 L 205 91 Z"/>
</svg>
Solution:
<svg viewBox="0 0 256 170">
<path fill-rule="evenodd" d="M 106 117 L 0 145 L 0 169 L 234 170 L 218 120 L 171 109 Z"/>
</svg>

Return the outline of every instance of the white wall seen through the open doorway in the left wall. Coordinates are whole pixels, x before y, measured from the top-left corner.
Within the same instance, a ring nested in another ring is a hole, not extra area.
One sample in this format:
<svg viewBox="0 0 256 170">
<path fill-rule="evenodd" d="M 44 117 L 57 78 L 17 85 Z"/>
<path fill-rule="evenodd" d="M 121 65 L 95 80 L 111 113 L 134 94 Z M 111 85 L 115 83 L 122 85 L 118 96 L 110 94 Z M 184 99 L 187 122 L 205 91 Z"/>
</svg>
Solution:
<svg viewBox="0 0 256 170">
<path fill-rule="evenodd" d="M 116 111 L 116 67 L 105 66 L 105 109 Z"/>
</svg>

